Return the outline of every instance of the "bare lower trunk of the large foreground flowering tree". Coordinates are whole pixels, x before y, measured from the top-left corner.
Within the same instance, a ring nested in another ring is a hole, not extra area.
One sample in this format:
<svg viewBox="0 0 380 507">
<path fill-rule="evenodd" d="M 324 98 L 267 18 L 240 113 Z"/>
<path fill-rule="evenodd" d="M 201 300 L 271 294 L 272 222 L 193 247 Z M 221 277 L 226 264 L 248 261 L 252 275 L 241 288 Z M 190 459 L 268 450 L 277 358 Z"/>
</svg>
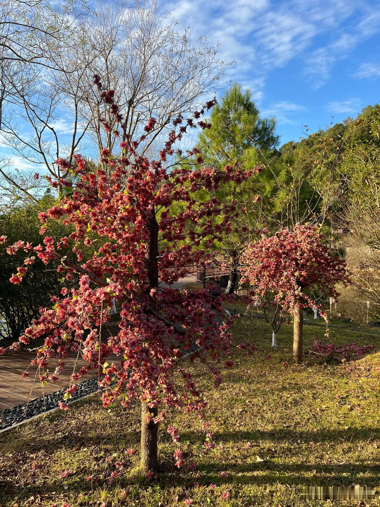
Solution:
<svg viewBox="0 0 380 507">
<path fill-rule="evenodd" d="M 141 468 L 143 472 L 156 472 L 158 467 L 158 424 L 145 416 L 153 414 L 157 417 L 158 409 L 150 409 L 145 402 L 141 403 Z"/>
</svg>

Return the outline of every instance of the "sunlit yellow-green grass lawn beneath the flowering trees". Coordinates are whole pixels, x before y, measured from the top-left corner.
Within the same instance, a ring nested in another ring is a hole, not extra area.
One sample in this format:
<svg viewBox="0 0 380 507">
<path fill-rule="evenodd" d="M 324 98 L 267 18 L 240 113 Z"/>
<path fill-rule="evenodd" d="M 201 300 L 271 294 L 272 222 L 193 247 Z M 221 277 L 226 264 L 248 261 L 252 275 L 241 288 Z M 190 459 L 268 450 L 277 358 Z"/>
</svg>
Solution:
<svg viewBox="0 0 380 507">
<path fill-rule="evenodd" d="M 283 325 L 280 350 L 273 351 L 267 324 L 240 320 L 233 329 L 236 344 L 251 340 L 258 350 L 249 357 L 236 349 L 235 365 L 219 389 L 203 366 L 193 368 L 207 393 L 215 448 L 205 449 L 197 417 L 170 417 L 180 429 L 185 463 L 197 465 L 194 472 L 174 467 L 173 444 L 161 426 L 162 471 L 151 481 L 141 477 L 139 407 L 107 410 L 94 395 L 0 434 L 0 505 L 153 507 L 185 505 L 186 499 L 224 506 L 380 505 L 378 496 L 363 502 L 300 500 L 301 486 L 379 490 L 380 352 L 351 365 L 313 364 L 306 355 L 305 364 L 294 366 L 291 331 Z M 305 350 L 312 337 L 324 334 L 323 325 L 305 325 Z M 333 328 L 330 341 L 379 347 L 380 334 Z M 109 485 L 115 471 L 119 475 Z M 225 491 L 229 497 L 223 499 Z"/>
</svg>

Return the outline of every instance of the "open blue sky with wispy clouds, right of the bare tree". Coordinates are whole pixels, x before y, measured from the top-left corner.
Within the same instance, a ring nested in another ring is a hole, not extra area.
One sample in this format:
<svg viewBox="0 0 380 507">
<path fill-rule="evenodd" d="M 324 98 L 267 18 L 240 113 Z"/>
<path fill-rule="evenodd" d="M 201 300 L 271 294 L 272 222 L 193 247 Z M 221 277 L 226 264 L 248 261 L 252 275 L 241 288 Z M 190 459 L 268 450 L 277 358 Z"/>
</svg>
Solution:
<svg viewBox="0 0 380 507">
<path fill-rule="evenodd" d="M 227 78 L 277 117 L 280 144 L 379 100 L 379 2 L 177 0 L 162 11 L 235 60 Z"/>
</svg>

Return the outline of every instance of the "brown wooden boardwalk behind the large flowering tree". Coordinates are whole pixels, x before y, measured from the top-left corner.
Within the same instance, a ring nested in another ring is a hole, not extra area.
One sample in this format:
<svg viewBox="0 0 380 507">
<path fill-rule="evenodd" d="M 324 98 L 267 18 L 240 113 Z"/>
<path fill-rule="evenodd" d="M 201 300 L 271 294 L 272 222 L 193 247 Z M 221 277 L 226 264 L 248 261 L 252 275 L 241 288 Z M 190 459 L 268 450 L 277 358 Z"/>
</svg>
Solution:
<svg viewBox="0 0 380 507">
<path fill-rule="evenodd" d="M 187 275 L 184 278 L 179 279 L 177 282 L 172 284 L 173 288 L 182 289 L 187 283 L 197 283 L 197 275 Z M 201 284 L 199 284 L 201 286 Z M 161 282 L 160 286 L 164 286 Z M 107 331 L 102 332 L 102 340 L 106 340 L 109 333 L 113 335 L 119 332 L 119 328 L 109 327 Z M 104 334 L 103 334 L 104 333 Z M 33 344 L 30 345 L 30 348 Z M 37 372 L 37 367 L 30 367 L 28 369 L 29 376 L 22 378 L 21 375 L 29 367 L 30 360 L 35 357 L 35 353 L 28 352 L 27 350 L 7 353 L 0 357 L 0 411 L 15 407 L 16 405 L 22 405 L 28 400 L 34 400 L 44 394 L 58 391 L 63 387 L 67 387 L 70 383 L 70 375 L 75 371 L 78 371 L 82 366 L 85 366 L 86 362 L 79 355 L 77 360 L 77 354 L 72 354 L 65 358 L 65 369 L 60 375 L 60 380 L 54 383 L 48 383 L 42 389 L 40 382 L 40 375 Z M 120 361 L 118 356 L 110 356 L 110 360 L 115 363 Z M 75 366 L 75 363 L 76 366 Z M 57 359 L 51 358 L 49 363 L 49 372 L 53 373 L 57 365 Z M 95 370 L 90 371 L 86 376 L 81 378 L 81 381 L 87 380 L 96 375 Z"/>
</svg>

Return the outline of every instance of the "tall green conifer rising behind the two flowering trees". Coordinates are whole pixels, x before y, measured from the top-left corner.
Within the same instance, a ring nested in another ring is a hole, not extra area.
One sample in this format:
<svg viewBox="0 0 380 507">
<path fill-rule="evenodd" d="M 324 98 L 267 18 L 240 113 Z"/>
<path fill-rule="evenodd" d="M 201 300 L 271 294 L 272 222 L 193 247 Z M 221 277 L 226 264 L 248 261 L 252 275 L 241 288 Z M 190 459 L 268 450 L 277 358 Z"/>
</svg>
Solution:
<svg viewBox="0 0 380 507">
<path fill-rule="evenodd" d="M 220 103 L 213 108 L 210 121 L 211 128 L 199 135 L 196 147 L 199 153 L 195 155 L 200 155 L 205 165 L 219 169 L 225 166 L 254 169 L 263 164 L 264 157 L 278 144 L 274 118 L 261 118 L 250 90 L 243 91 L 237 83 L 225 92 Z M 197 192 L 197 199 L 203 202 L 213 195 L 223 202 L 235 200 L 244 209 L 243 213 L 235 216 L 231 231 L 214 244 L 221 255 L 231 262 L 227 294 L 235 291 L 242 244 L 261 225 L 261 198 L 258 196 L 271 190 L 273 178 L 269 173 L 260 176 L 260 170 L 261 167 L 254 169 L 252 175 L 238 185 L 227 182 L 219 186 L 217 192 L 206 189 Z M 219 216 L 217 220 L 223 222 L 224 218 Z"/>
</svg>

